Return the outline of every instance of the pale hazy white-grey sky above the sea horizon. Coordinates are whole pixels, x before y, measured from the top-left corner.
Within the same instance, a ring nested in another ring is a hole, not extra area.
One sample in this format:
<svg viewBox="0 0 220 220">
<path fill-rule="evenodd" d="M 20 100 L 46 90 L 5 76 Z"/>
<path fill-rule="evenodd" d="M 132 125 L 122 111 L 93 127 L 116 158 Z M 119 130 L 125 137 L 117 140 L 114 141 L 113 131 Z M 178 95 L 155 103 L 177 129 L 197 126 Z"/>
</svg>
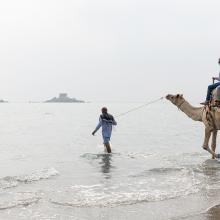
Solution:
<svg viewBox="0 0 220 220">
<path fill-rule="evenodd" d="M 0 3 L 0 98 L 203 101 L 220 67 L 219 0 Z M 203 98 L 204 97 L 204 98 Z"/>
</svg>

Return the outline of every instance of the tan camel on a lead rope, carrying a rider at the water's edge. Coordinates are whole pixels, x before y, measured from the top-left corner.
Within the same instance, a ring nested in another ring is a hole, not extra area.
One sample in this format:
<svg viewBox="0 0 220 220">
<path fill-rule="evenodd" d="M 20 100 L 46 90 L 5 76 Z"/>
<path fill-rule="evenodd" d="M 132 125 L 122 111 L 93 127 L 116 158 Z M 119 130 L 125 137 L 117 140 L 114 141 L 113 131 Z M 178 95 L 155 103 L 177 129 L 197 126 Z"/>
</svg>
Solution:
<svg viewBox="0 0 220 220">
<path fill-rule="evenodd" d="M 213 93 L 216 93 L 216 91 Z M 169 94 L 166 96 L 166 99 L 177 106 L 178 109 L 184 112 L 192 120 L 203 122 L 205 125 L 205 138 L 202 147 L 212 155 L 212 159 L 220 158 L 220 154 L 215 153 L 217 132 L 220 130 L 220 108 L 212 106 L 194 107 L 180 94 Z M 210 149 L 209 139 L 211 135 L 212 142 Z"/>
</svg>

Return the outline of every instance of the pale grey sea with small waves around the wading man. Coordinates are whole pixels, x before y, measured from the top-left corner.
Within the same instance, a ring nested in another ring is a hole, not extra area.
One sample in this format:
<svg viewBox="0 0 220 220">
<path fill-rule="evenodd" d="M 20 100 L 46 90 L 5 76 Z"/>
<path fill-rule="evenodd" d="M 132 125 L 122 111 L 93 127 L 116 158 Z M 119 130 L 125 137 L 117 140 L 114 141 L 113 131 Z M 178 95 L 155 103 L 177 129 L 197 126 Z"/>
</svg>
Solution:
<svg viewBox="0 0 220 220">
<path fill-rule="evenodd" d="M 116 118 L 110 155 L 91 135 L 103 105 L 141 104 L 1 104 L 0 219 L 214 219 L 220 161 L 202 123 L 163 100 Z"/>
</svg>

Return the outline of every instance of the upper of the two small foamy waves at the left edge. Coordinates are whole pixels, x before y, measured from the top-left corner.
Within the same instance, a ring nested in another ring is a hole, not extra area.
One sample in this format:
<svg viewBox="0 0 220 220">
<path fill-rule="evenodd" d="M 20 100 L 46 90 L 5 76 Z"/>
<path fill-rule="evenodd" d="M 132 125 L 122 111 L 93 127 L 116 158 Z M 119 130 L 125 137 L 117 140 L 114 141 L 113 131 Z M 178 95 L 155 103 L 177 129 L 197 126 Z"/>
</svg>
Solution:
<svg viewBox="0 0 220 220">
<path fill-rule="evenodd" d="M 31 174 L 21 176 L 7 176 L 0 179 L 0 189 L 7 189 L 18 186 L 19 183 L 32 183 L 58 175 L 59 172 L 54 168 L 35 171 Z"/>
</svg>

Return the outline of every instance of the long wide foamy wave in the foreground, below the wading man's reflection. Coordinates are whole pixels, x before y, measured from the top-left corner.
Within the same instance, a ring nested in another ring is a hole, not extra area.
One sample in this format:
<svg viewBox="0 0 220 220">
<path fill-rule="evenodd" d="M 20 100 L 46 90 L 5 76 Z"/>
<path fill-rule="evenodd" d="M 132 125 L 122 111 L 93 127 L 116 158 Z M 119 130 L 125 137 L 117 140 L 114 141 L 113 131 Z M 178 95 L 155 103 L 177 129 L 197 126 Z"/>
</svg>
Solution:
<svg viewBox="0 0 220 220">
<path fill-rule="evenodd" d="M 157 182 L 155 178 L 127 181 L 111 187 L 105 185 L 72 186 L 51 195 L 50 202 L 71 207 L 117 207 L 144 202 L 156 202 L 198 193 L 200 182 L 190 176 L 168 177 Z"/>
</svg>

